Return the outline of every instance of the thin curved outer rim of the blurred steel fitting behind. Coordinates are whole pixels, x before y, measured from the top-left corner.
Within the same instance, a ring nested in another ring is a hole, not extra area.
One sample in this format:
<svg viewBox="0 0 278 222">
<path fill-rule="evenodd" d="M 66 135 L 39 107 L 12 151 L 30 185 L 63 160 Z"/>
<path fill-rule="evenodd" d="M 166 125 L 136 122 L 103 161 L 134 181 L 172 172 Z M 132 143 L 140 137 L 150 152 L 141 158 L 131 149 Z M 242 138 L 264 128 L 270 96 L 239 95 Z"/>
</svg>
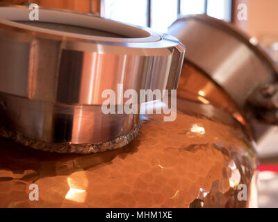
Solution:
<svg viewBox="0 0 278 222">
<path fill-rule="evenodd" d="M 200 14 L 200 15 L 186 15 L 184 17 L 180 17 L 175 22 L 172 23 L 175 24 L 179 21 L 188 21 L 188 20 L 198 20 L 199 22 L 204 22 L 210 26 L 214 26 L 216 28 L 221 28 L 223 31 L 226 31 L 227 33 L 230 33 L 231 35 L 234 35 L 238 40 L 242 41 L 244 44 L 249 46 L 249 48 L 256 53 L 257 56 L 265 60 L 265 62 L 274 69 L 276 74 L 278 75 L 278 65 L 275 63 L 272 58 L 266 53 L 266 51 L 262 48 L 262 46 L 259 44 L 259 42 L 252 42 L 252 39 L 254 37 L 250 37 L 243 31 L 241 31 L 239 28 L 236 28 L 236 26 L 233 26 L 232 24 L 229 24 L 228 22 L 224 22 L 220 19 L 216 19 L 214 17 L 210 17 L 208 15 Z M 172 26 L 171 25 L 171 26 Z M 278 78 L 278 76 L 276 76 Z"/>
</svg>

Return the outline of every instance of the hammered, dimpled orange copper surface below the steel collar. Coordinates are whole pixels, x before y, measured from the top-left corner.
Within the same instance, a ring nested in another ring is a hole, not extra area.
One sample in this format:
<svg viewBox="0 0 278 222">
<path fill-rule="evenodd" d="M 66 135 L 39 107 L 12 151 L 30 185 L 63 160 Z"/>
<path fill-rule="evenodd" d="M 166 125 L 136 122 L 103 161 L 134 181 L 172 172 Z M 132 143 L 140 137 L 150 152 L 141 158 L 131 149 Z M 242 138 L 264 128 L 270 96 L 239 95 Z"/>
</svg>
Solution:
<svg viewBox="0 0 278 222">
<path fill-rule="evenodd" d="M 115 151 L 62 155 L 1 138 L 0 207 L 254 206 L 256 155 L 242 126 L 211 105 L 177 105 L 176 121 L 149 114 Z M 28 198 L 33 183 L 38 201 Z"/>
</svg>

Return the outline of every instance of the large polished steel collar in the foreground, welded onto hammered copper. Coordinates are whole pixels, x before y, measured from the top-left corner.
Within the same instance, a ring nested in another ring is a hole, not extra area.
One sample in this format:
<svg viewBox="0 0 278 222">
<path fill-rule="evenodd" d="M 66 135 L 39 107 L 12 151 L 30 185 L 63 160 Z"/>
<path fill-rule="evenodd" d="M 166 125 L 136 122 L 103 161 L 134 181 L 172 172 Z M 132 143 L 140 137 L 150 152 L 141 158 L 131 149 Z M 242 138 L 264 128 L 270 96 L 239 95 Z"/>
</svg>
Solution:
<svg viewBox="0 0 278 222">
<path fill-rule="evenodd" d="M 104 89 L 177 87 L 185 49 L 176 38 L 63 10 L 41 8 L 40 21 L 30 22 L 29 12 L 0 7 L 6 132 L 64 149 L 64 143 L 107 145 L 135 137 L 140 120 L 138 114 L 103 114 Z"/>
</svg>

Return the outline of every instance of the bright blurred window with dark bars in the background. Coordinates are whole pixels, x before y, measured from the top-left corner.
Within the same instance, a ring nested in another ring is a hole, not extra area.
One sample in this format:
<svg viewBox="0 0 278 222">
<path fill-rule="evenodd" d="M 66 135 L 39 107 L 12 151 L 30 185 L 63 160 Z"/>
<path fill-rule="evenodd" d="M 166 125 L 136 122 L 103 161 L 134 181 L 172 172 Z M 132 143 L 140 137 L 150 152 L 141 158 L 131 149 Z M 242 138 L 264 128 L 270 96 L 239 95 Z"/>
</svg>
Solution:
<svg viewBox="0 0 278 222">
<path fill-rule="evenodd" d="M 104 17 L 166 33 L 183 15 L 207 14 L 231 22 L 232 0 L 104 0 Z"/>
</svg>

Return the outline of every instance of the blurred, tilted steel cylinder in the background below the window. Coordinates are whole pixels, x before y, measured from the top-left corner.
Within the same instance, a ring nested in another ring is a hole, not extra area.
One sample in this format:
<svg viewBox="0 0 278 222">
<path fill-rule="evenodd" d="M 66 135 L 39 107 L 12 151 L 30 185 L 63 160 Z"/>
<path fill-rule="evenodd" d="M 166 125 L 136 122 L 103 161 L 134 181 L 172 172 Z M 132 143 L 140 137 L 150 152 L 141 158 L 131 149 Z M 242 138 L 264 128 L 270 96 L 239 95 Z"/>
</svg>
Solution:
<svg viewBox="0 0 278 222">
<path fill-rule="evenodd" d="M 207 15 L 177 19 L 168 33 L 186 44 L 186 60 L 201 67 L 239 105 L 245 105 L 253 90 L 277 80 L 275 62 L 234 26 Z"/>
</svg>

